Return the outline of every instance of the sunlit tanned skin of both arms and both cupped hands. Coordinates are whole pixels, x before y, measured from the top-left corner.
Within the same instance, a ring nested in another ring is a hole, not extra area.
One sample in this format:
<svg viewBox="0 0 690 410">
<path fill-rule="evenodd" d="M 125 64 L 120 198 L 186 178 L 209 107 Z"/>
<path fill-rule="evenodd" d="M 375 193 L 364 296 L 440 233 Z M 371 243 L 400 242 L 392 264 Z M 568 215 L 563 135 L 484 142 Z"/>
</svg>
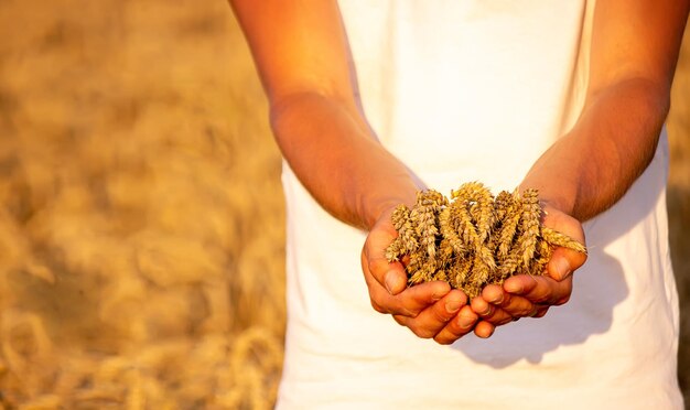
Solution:
<svg viewBox="0 0 690 410">
<path fill-rule="evenodd" d="M 471 332 L 489 337 L 498 325 L 541 317 L 568 302 L 572 273 L 585 257 L 563 248 L 554 251 L 547 276 L 513 277 L 471 302 L 445 282 L 407 287 L 403 266 L 384 257 L 397 235 L 390 214 L 399 203 L 412 205 L 424 186 L 367 125 L 337 2 L 230 3 L 283 157 L 328 213 L 368 231 L 362 268 L 376 311 L 420 337 L 450 344 Z M 546 226 L 584 242 L 581 223 L 618 201 L 651 161 L 689 8 L 690 0 L 596 2 L 582 115 L 520 184 L 539 190 Z"/>
</svg>

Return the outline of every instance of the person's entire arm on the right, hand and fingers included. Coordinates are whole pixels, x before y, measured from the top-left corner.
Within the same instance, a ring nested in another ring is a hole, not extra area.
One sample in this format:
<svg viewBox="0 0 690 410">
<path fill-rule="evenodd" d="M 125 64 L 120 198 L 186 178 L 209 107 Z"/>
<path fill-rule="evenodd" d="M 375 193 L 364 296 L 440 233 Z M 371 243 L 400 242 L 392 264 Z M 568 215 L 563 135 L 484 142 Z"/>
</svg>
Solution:
<svg viewBox="0 0 690 410">
<path fill-rule="evenodd" d="M 546 225 L 584 240 L 579 222 L 615 204 L 651 161 L 689 9 L 688 0 L 597 1 L 582 115 L 521 184 L 539 190 L 549 209 Z M 505 323 L 507 313 L 543 315 L 549 305 L 568 301 L 570 273 L 583 262 L 576 252 L 558 249 L 548 266 L 553 279 L 511 278 L 505 292 L 488 288 L 473 308 L 488 308 L 485 317 L 494 324 Z"/>
</svg>

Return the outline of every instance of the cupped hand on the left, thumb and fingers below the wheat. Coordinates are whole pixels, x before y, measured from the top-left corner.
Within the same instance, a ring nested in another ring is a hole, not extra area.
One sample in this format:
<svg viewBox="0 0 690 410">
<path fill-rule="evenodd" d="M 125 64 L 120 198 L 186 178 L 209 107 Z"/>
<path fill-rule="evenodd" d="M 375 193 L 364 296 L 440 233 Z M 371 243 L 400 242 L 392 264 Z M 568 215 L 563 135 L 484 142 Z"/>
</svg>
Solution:
<svg viewBox="0 0 690 410">
<path fill-rule="evenodd" d="M 396 322 L 419 337 L 451 344 L 473 330 L 477 315 L 467 305 L 465 293 L 451 290 L 446 282 L 408 288 L 402 263 L 389 263 L 385 256 L 386 248 L 398 236 L 391 214 L 392 208 L 382 213 L 362 250 L 362 270 L 371 306 L 377 312 L 392 314 Z"/>
</svg>

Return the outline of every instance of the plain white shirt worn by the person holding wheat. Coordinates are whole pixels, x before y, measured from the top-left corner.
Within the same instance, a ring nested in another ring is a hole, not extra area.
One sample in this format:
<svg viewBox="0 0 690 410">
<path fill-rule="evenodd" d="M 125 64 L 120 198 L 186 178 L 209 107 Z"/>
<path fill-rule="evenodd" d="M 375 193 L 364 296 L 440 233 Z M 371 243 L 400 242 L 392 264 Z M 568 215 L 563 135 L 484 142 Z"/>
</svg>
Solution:
<svg viewBox="0 0 690 410">
<path fill-rule="evenodd" d="M 364 109 L 381 142 L 446 195 L 511 190 L 572 126 L 586 87 L 585 0 L 342 0 Z M 365 234 L 283 166 L 288 333 L 278 407 L 680 409 L 667 241 L 667 142 L 625 197 L 585 224 L 571 301 L 452 346 L 370 304 Z"/>
</svg>

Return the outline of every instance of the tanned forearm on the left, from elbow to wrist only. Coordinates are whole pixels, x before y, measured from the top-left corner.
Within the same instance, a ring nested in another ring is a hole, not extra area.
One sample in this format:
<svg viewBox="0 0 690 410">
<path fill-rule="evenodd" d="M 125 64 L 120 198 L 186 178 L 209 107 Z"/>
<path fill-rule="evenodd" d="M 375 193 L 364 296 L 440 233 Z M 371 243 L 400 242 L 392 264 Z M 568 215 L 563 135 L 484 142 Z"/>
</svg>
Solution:
<svg viewBox="0 0 690 410">
<path fill-rule="evenodd" d="M 314 198 L 336 218 L 369 229 L 381 213 L 414 201 L 405 165 L 376 140 L 358 110 L 315 93 L 271 102 L 283 157 Z"/>
</svg>

